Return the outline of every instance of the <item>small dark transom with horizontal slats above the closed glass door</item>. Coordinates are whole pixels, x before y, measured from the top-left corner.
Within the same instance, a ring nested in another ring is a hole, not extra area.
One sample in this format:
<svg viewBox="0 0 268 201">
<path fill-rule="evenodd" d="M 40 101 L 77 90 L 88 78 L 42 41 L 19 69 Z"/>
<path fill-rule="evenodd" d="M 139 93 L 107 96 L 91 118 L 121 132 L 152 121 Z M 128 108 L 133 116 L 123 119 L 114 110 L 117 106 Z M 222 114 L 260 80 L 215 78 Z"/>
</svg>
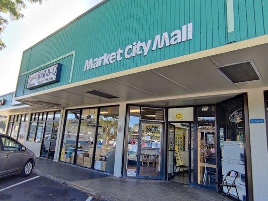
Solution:
<svg viewBox="0 0 268 201">
<path fill-rule="evenodd" d="M 165 121 L 165 110 L 158 108 L 141 108 L 141 120 L 164 122 Z"/>
</svg>

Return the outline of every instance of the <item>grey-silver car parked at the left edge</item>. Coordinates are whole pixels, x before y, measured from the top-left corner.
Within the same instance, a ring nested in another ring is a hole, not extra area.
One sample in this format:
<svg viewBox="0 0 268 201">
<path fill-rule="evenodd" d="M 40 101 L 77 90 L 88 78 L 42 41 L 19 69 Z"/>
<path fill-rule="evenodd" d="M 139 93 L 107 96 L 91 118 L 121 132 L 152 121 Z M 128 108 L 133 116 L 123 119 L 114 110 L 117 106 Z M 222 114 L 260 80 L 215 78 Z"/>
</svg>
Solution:
<svg viewBox="0 0 268 201">
<path fill-rule="evenodd" d="M 29 176 L 35 165 L 35 155 L 14 138 L 0 134 L 0 178 Z"/>
</svg>

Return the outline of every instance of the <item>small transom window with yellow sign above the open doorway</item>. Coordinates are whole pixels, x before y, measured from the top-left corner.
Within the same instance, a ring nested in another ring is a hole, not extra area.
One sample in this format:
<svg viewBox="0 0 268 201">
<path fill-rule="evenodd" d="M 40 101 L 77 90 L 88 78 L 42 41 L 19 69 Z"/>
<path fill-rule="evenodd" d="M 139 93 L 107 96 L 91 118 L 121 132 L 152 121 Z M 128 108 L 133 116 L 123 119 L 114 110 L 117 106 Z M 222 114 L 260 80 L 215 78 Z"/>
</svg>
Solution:
<svg viewBox="0 0 268 201">
<path fill-rule="evenodd" d="M 194 121 L 194 108 L 172 108 L 168 109 L 168 121 Z"/>
</svg>

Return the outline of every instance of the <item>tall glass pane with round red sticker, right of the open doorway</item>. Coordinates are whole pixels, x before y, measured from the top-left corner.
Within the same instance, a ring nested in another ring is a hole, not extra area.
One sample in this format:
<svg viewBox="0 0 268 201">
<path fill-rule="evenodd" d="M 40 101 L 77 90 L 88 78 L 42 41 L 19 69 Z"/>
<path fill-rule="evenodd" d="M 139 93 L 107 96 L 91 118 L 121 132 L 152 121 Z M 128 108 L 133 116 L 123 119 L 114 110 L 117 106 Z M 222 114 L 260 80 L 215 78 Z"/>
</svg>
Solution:
<svg viewBox="0 0 268 201">
<path fill-rule="evenodd" d="M 197 128 L 197 177 L 198 184 L 215 186 L 216 136 L 215 124 L 199 123 Z"/>
</svg>

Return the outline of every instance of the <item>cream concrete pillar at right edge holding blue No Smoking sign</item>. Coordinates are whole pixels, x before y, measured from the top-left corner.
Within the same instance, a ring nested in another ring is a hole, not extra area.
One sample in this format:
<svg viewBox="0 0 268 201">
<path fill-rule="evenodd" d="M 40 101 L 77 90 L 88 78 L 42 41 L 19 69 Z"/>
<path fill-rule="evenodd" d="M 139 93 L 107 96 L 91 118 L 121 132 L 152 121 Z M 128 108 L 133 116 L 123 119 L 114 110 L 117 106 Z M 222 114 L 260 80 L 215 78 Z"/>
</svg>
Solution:
<svg viewBox="0 0 268 201">
<path fill-rule="evenodd" d="M 264 119 L 263 89 L 248 91 L 248 115 L 250 119 Z M 267 120 L 266 120 L 267 121 Z M 255 201 L 268 197 L 268 152 L 266 140 L 266 124 L 249 124 L 253 198 Z"/>
</svg>

